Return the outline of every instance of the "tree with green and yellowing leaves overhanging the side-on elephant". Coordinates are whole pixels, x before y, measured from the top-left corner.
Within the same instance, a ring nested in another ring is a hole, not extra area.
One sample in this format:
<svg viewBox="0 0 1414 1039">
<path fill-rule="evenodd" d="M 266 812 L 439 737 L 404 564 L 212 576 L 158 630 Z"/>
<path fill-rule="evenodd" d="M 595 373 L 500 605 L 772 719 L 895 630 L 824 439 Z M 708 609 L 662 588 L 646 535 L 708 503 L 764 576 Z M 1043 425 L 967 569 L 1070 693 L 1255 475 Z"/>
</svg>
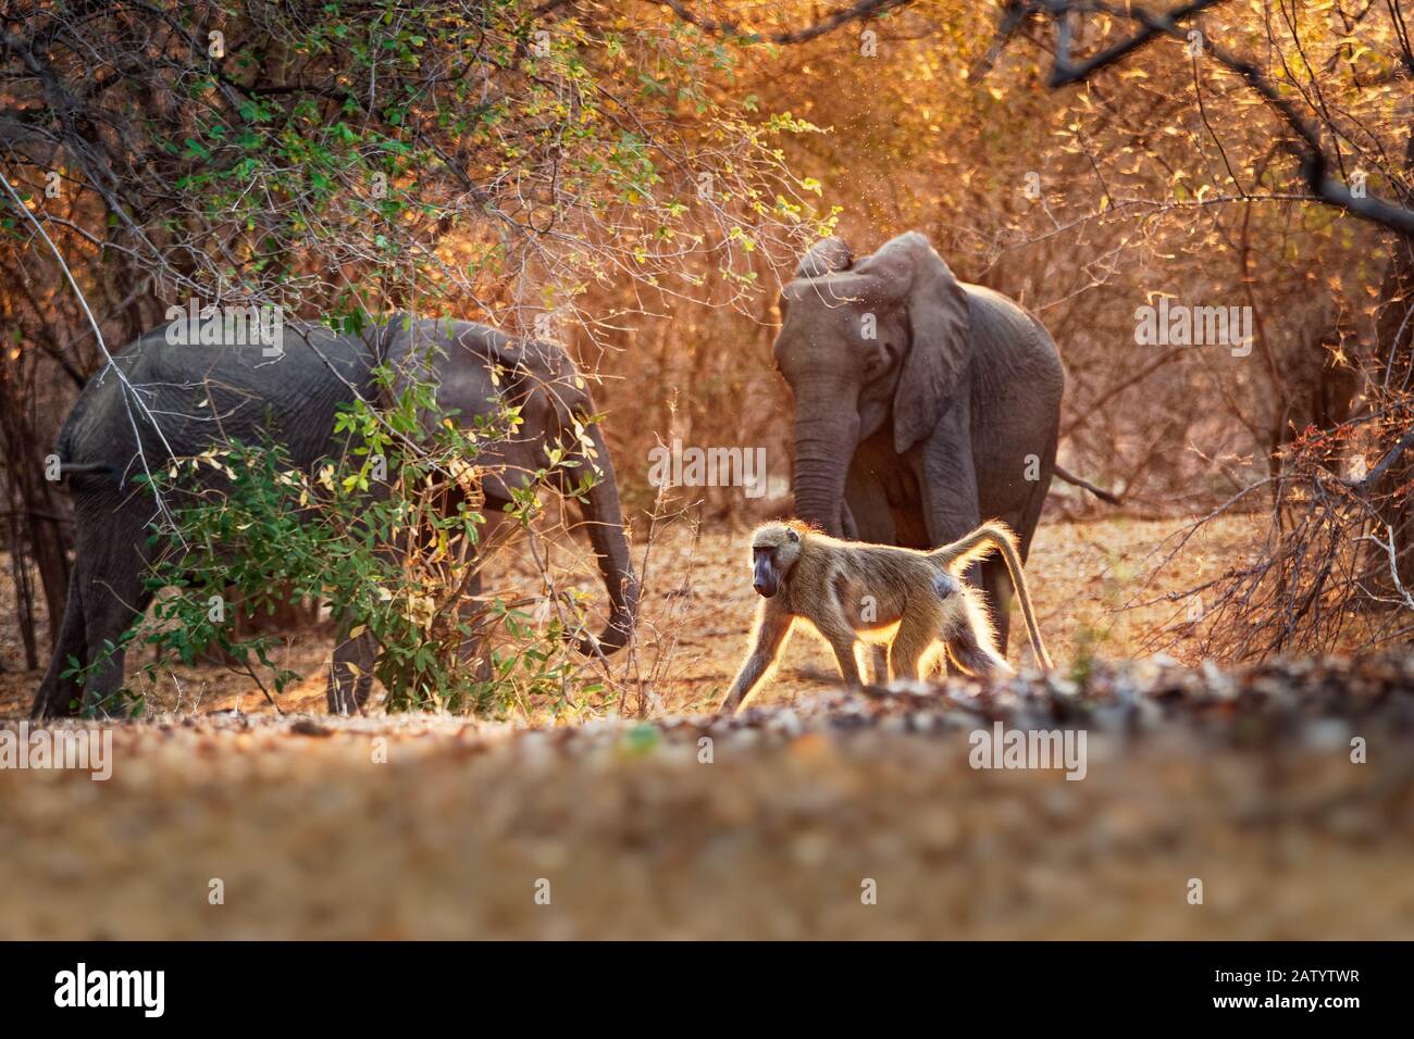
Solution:
<svg viewBox="0 0 1414 1039">
<path fill-rule="evenodd" d="M 65 546 L 37 448 L 173 304 L 597 344 L 614 318 L 584 312 L 592 286 L 690 293 L 715 270 L 748 291 L 752 250 L 817 225 L 778 150 L 807 127 L 708 95 L 731 65 L 612 3 L 11 4 L 0 392 L 28 404 L 3 430 L 7 483 L 51 616 Z"/>
</svg>

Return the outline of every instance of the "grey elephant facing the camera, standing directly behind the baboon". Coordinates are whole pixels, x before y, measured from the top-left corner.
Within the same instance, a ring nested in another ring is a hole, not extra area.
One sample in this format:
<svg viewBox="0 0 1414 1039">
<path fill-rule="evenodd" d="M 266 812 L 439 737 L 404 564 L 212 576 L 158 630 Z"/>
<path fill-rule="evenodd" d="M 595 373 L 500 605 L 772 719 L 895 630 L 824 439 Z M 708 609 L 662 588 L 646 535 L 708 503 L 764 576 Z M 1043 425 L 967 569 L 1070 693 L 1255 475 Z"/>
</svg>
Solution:
<svg viewBox="0 0 1414 1039">
<path fill-rule="evenodd" d="M 854 260 L 830 237 L 781 293 L 776 368 L 795 394 L 796 513 L 826 533 L 930 548 L 1000 519 L 1021 557 L 1055 469 L 1065 375 L 1007 297 L 960 283 L 909 232 Z M 973 571 L 1007 646 L 1011 581 Z"/>
</svg>

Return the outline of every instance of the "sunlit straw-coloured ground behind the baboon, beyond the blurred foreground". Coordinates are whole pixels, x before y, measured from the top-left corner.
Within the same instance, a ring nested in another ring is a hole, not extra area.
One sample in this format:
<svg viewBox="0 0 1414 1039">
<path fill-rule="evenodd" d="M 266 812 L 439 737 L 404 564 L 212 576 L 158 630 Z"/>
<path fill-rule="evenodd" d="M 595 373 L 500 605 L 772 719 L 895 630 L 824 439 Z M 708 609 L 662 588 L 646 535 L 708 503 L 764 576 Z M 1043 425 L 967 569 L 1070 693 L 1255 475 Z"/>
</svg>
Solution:
<svg viewBox="0 0 1414 1039">
<path fill-rule="evenodd" d="M 1159 636 L 1165 652 L 1181 662 L 1196 662 L 1188 635 L 1186 605 L 1162 595 L 1202 584 L 1251 544 L 1263 517 L 1232 516 L 1217 520 L 1189 543 L 1181 563 L 1162 567 L 1165 539 L 1184 529 L 1175 520 L 1106 519 L 1089 523 L 1042 524 L 1032 544 L 1028 580 L 1036 601 L 1041 630 L 1051 656 L 1065 670 L 1082 652 L 1124 659 L 1154 652 L 1147 639 Z M 614 677 L 629 687 L 631 708 L 648 687 L 649 704 L 662 711 L 694 712 L 715 707 L 741 663 L 756 605 L 751 589 L 749 530 L 704 530 L 693 537 L 686 526 L 666 532 L 652 550 L 642 541 L 635 564 L 645 577 L 642 645 L 636 654 L 611 660 Z M 645 556 L 646 551 L 646 556 Z M 646 560 L 646 567 L 642 565 Z M 534 594 L 529 565 L 499 567 L 491 587 L 508 598 Z M 602 585 L 594 578 L 581 587 L 602 602 Z M 1154 605 L 1131 608 L 1133 602 Z M 8 565 L 0 575 L 0 602 L 13 601 Z M 1172 645 L 1168 645 L 1172 643 Z M 280 700 L 286 711 L 320 711 L 332 635 L 329 630 L 297 632 L 276 660 L 303 676 Z M 1029 653 L 1017 618 L 1011 659 Z M 0 616 L 0 714 L 18 714 L 34 697 L 42 671 L 23 670 L 23 652 L 13 611 Z M 129 669 L 132 671 L 132 669 Z M 829 649 L 812 636 L 795 636 L 781 660 L 773 686 L 759 703 L 793 703 L 802 694 L 830 684 L 834 662 Z M 223 667 L 168 669 L 167 681 L 148 690 L 153 711 L 204 714 L 218 710 L 264 712 L 271 710 L 259 687 L 245 674 Z M 617 704 L 607 705 L 608 712 Z M 375 708 L 376 710 L 376 708 Z M 595 704 L 575 720 L 600 717 Z M 636 710 L 633 710 L 636 712 Z M 536 718 L 544 721 L 544 718 Z"/>
</svg>

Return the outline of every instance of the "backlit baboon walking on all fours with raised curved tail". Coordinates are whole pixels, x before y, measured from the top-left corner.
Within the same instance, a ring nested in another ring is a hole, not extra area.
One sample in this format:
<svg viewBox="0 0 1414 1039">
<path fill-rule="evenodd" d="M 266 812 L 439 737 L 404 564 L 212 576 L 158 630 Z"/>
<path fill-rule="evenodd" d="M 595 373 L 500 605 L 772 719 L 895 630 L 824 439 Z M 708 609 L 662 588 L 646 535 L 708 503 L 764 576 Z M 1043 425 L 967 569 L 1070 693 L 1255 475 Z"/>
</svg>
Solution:
<svg viewBox="0 0 1414 1039">
<path fill-rule="evenodd" d="M 942 643 L 969 674 L 1014 674 L 997 649 L 997 633 L 977 592 L 962 574 L 993 550 L 1011 573 L 1036 662 L 1046 654 L 1021 570 L 1017 536 L 1000 522 L 932 551 L 841 541 L 799 520 L 766 523 L 751 536 L 752 587 L 762 602 L 751 650 L 720 712 L 731 714 L 775 664 L 795 622 L 807 621 L 830 643 L 840 674 L 860 686 L 857 642 L 888 643 L 889 679 L 918 679 L 925 657 Z"/>
</svg>

